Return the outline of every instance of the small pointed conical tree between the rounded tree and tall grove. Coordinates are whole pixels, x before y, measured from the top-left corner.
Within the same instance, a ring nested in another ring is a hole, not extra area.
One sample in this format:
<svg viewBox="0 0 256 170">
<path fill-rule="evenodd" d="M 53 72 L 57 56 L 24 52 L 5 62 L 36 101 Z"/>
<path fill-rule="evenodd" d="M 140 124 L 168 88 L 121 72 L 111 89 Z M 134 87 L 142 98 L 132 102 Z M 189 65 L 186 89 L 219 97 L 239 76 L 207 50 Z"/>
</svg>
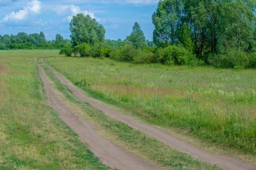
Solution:
<svg viewBox="0 0 256 170">
<path fill-rule="evenodd" d="M 140 29 L 140 25 L 137 22 L 135 22 L 134 26 L 132 27 L 131 35 L 126 39 L 132 43 L 135 49 L 142 48 L 146 43 L 144 33 Z"/>
</svg>

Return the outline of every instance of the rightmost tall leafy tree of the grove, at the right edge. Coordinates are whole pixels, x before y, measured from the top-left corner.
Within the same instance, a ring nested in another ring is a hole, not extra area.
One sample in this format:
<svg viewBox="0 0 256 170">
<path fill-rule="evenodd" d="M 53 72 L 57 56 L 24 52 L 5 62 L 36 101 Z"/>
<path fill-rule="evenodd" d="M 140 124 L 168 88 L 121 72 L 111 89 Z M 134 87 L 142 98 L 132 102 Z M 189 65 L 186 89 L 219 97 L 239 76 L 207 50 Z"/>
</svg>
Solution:
<svg viewBox="0 0 256 170">
<path fill-rule="evenodd" d="M 222 20 L 219 25 L 219 45 L 225 51 L 227 48 L 250 51 L 255 45 L 255 21 L 253 11 L 241 0 L 224 3 Z"/>
</svg>

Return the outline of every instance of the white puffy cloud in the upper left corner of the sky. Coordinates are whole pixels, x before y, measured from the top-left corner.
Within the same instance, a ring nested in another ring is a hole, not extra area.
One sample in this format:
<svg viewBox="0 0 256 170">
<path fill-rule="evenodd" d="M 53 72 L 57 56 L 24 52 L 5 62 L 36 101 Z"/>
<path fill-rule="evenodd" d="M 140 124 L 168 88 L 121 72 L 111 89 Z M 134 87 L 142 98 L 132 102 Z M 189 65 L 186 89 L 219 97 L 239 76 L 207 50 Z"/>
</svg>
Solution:
<svg viewBox="0 0 256 170">
<path fill-rule="evenodd" d="M 9 15 L 6 15 L 0 23 L 12 24 L 12 23 L 22 23 L 24 20 L 27 20 L 29 16 L 35 16 L 40 14 L 41 2 L 38 0 L 32 0 L 23 6 L 23 9 L 18 12 L 11 12 Z"/>
</svg>

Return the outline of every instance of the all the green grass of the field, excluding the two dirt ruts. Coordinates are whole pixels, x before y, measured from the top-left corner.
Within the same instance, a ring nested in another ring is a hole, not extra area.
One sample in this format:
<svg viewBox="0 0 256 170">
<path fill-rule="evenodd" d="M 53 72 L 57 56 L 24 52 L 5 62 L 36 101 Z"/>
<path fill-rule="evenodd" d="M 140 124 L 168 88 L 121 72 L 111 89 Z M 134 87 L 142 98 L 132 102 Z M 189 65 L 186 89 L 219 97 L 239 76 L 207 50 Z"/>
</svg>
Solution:
<svg viewBox="0 0 256 170">
<path fill-rule="evenodd" d="M 0 51 L 0 169 L 111 169 L 49 106 L 35 65 L 42 57 L 112 109 L 212 153 L 256 162 L 255 70 L 134 65 L 107 58 L 64 58 L 58 50 L 9 50 Z M 67 107 L 125 150 L 172 169 L 219 169 L 104 115 L 42 67 Z"/>
</svg>

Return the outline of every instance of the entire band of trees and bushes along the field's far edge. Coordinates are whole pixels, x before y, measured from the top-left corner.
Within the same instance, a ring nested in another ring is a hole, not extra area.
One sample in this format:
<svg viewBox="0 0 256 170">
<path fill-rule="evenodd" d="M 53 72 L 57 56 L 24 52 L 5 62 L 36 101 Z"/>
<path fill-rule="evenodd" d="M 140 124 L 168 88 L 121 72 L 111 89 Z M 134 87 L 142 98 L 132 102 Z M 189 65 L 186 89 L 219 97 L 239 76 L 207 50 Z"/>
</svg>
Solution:
<svg viewBox="0 0 256 170">
<path fill-rule="evenodd" d="M 213 65 L 256 68 L 255 0 L 160 0 L 152 14 L 153 41 L 145 39 L 139 23 L 125 40 L 105 40 L 105 29 L 89 15 L 70 22 L 70 38 L 47 42 L 43 33 L 27 35 L 40 44 L 61 44 L 60 54 L 109 57 L 133 63 Z M 19 35 L 19 34 L 18 34 Z M 20 43 L 20 36 L 0 37 L 2 46 Z M 31 42 L 32 40 L 27 40 Z M 10 43 L 11 42 L 11 43 Z M 31 42 L 32 43 L 32 42 Z M 34 43 L 33 43 L 34 44 Z M 9 45 L 8 48 L 11 46 Z"/>
</svg>

